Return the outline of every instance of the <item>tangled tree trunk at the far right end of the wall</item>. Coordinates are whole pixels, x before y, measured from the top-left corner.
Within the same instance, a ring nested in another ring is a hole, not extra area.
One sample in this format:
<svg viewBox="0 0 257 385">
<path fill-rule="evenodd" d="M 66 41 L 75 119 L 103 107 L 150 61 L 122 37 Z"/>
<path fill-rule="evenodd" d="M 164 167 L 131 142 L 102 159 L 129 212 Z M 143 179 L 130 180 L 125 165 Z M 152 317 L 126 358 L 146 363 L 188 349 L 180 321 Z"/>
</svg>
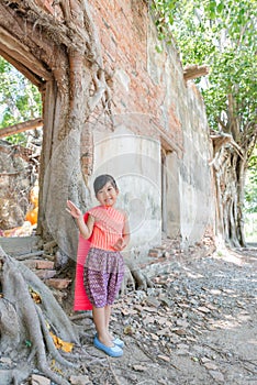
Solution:
<svg viewBox="0 0 257 385">
<path fill-rule="evenodd" d="M 232 94 L 227 96 L 226 124 L 211 135 L 216 187 L 216 232 L 230 246 L 246 246 L 244 235 L 244 189 L 248 160 L 257 140 L 254 122 L 241 127 Z M 219 119 L 221 121 L 221 119 Z"/>
</svg>

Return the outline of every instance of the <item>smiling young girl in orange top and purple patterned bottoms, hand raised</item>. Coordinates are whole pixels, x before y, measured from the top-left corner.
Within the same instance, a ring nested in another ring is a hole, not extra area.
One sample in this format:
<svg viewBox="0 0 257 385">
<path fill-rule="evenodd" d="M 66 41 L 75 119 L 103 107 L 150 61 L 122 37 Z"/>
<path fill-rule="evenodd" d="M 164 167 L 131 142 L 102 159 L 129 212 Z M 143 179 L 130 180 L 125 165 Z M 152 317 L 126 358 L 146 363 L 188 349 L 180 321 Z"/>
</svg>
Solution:
<svg viewBox="0 0 257 385">
<path fill-rule="evenodd" d="M 90 240 L 83 266 L 83 285 L 92 305 L 97 329 L 93 344 L 110 356 L 121 356 L 124 342 L 110 334 L 109 323 L 111 305 L 124 275 L 124 262 L 120 252 L 130 241 L 128 221 L 123 210 L 114 209 L 119 189 L 111 175 L 97 177 L 93 188 L 100 206 L 82 216 L 79 208 L 68 200 L 67 211 L 77 220 L 80 237 Z"/>
</svg>

